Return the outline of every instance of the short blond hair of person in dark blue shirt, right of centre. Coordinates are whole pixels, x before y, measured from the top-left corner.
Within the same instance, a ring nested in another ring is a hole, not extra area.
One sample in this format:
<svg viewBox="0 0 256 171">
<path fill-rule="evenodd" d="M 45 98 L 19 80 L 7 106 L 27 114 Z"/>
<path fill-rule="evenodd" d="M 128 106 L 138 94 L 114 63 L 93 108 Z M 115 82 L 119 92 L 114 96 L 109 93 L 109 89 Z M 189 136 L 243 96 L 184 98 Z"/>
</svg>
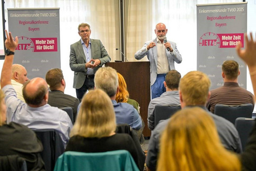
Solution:
<svg viewBox="0 0 256 171">
<path fill-rule="evenodd" d="M 205 105 L 210 84 L 208 76 L 201 71 L 191 71 L 181 78 L 179 91 L 186 106 Z"/>
</svg>

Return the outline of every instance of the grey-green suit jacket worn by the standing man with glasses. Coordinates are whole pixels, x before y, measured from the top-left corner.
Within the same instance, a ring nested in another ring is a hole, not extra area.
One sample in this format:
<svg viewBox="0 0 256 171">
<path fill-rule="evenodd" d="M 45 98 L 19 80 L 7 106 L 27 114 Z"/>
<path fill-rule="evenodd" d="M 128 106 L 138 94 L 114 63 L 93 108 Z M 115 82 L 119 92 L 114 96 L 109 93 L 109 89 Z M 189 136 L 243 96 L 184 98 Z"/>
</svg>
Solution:
<svg viewBox="0 0 256 171">
<path fill-rule="evenodd" d="M 94 73 L 96 73 L 97 69 L 101 67 L 106 62 L 110 62 L 111 58 L 102 45 L 100 40 L 90 39 L 91 40 L 91 50 L 92 50 L 92 59 L 99 59 L 100 65 L 94 68 Z M 86 78 L 85 68 L 86 56 L 83 52 L 83 47 L 81 44 L 81 40 L 72 44 L 70 46 L 70 55 L 69 55 L 69 66 L 72 71 L 74 71 L 74 83 L 73 88 L 80 89 L 84 83 Z"/>
</svg>

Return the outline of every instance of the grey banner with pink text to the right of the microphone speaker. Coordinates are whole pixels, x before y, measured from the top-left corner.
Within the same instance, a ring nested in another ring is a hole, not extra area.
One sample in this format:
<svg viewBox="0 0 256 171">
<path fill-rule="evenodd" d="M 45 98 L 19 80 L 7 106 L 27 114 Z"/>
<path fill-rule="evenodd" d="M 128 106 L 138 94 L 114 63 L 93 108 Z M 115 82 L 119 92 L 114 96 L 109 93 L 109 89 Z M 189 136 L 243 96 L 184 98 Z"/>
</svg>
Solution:
<svg viewBox="0 0 256 171">
<path fill-rule="evenodd" d="M 236 52 L 244 46 L 247 32 L 247 3 L 204 4 L 197 6 L 197 70 L 211 79 L 211 89 L 223 86 L 222 64 L 239 63 L 239 85 L 246 89 L 246 64 Z"/>
</svg>

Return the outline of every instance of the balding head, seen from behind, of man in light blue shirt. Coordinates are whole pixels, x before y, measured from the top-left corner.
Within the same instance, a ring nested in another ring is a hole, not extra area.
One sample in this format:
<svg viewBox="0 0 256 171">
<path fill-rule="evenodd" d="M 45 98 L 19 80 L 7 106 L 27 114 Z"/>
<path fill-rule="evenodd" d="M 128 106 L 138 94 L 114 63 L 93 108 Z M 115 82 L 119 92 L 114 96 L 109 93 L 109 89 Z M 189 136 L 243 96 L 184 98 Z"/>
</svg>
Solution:
<svg viewBox="0 0 256 171">
<path fill-rule="evenodd" d="M 28 80 L 23 86 L 23 97 L 32 107 L 40 107 L 48 102 L 48 86 L 43 78 Z"/>
</svg>

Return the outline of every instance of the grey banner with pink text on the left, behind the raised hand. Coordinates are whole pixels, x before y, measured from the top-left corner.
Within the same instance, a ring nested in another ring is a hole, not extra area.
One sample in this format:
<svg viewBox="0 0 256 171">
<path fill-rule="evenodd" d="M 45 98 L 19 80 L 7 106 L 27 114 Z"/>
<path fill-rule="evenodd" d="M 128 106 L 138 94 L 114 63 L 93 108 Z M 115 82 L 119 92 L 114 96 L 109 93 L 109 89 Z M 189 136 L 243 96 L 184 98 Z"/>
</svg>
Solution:
<svg viewBox="0 0 256 171">
<path fill-rule="evenodd" d="M 59 8 L 7 10 L 9 31 L 19 39 L 14 63 L 23 65 L 30 79 L 61 68 Z"/>
</svg>

